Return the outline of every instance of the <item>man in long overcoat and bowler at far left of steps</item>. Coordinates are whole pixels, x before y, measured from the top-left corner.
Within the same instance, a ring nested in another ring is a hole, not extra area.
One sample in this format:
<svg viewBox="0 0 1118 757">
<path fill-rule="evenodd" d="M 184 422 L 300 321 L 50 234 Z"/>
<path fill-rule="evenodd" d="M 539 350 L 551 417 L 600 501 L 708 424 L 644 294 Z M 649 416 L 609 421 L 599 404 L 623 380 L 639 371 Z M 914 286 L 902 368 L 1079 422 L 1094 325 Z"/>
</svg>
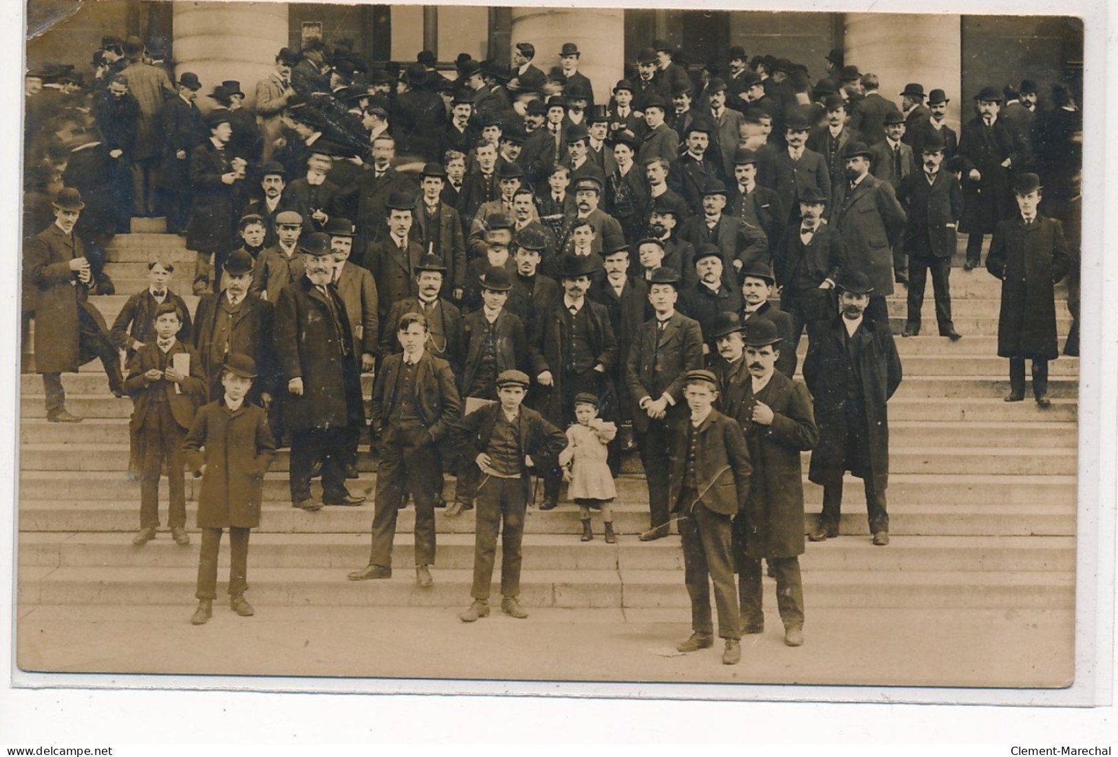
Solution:
<svg viewBox="0 0 1118 757">
<path fill-rule="evenodd" d="M 55 199 L 55 222 L 23 247 L 23 277 L 35 295 L 35 366 L 42 374 L 47 420 L 73 423 L 82 418 L 66 410 L 63 373 L 77 373 L 94 357 L 108 376 L 108 389 L 124 395 L 121 356 L 105 319 L 89 304 L 93 272 L 74 226 L 85 203 L 80 193 L 63 189 Z"/>
</svg>

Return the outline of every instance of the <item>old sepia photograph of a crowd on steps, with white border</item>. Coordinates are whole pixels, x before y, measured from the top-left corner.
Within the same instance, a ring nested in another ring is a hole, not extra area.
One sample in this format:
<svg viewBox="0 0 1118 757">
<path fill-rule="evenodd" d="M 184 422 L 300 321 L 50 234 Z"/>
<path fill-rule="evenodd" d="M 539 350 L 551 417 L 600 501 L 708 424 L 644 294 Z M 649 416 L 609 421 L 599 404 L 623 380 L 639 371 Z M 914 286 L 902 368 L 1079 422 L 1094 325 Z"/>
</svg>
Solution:
<svg viewBox="0 0 1118 757">
<path fill-rule="evenodd" d="M 25 12 L 17 680 L 1093 696 L 1083 18 Z"/>
</svg>

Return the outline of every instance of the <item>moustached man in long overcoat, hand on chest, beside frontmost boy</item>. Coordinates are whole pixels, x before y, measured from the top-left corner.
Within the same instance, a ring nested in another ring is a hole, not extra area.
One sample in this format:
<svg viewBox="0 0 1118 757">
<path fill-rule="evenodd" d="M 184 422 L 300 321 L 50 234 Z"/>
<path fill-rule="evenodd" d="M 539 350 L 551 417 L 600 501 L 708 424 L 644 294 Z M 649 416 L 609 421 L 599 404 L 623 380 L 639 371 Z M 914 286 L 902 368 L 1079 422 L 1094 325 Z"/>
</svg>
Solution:
<svg viewBox="0 0 1118 757">
<path fill-rule="evenodd" d="M 807 387 L 776 370 L 780 334 L 771 322 L 755 319 L 735 332 L 727 318 L 719 324 L 721 363 L 719 410 L 738 421 L 746 434 L 754 468 L 749 501 L 733 520 L 733 557 L 739 575 L 741 632 L 762 633 L 761 558 L 776 578 L 777 607 L 785 643 L 804 643 L 804 588 L 799 555 L 804 554 L 804 487 L 799 453 L 818 440 Z"/>
</svg>

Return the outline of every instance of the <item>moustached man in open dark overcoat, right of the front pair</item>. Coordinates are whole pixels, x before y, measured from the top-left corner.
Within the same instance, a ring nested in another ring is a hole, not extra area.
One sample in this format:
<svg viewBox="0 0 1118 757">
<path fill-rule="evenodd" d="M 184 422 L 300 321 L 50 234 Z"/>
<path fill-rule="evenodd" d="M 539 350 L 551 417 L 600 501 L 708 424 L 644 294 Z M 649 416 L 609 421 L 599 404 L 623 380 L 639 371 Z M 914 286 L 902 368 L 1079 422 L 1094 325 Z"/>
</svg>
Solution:
<svg viewBox="0 0 1118 757">
<path fill-rule="evenodd" d="M 839 535 L 843 475 L 862 479 L 873 544 L 889 544 L 889 397 L 901 383 L 901 361 L 888 323 L 868 317 L 865 274 L 839 280 L 836 317 L 821 325 L 804 360 L 804 382 L 815 397 L 818 444 L 808 478 L 823 486 L 823 512 L 808 535 L 822 542 Z"/>
</svg>

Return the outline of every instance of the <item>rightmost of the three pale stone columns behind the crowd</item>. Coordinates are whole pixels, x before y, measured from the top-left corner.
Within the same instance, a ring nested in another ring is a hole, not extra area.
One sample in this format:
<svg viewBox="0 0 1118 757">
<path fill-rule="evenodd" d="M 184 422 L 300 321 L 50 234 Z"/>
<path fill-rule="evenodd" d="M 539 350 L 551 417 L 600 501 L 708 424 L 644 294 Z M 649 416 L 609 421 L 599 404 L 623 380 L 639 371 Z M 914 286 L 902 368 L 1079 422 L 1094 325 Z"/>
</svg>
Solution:
<svg viewBox="0 0 1118 757">
<path fill-rule="evenodd" d="M 950 100 L 947 122 L 958 133 L 963 93 L 960 17 L 949 13 L 846 13 L 845 58 L 881 79 L 881 96 L 900 107 L 909 82 L 925 93 L 942 89 Z M 963 111 L 969 114 L 970 111 Z"/>
</svg>

